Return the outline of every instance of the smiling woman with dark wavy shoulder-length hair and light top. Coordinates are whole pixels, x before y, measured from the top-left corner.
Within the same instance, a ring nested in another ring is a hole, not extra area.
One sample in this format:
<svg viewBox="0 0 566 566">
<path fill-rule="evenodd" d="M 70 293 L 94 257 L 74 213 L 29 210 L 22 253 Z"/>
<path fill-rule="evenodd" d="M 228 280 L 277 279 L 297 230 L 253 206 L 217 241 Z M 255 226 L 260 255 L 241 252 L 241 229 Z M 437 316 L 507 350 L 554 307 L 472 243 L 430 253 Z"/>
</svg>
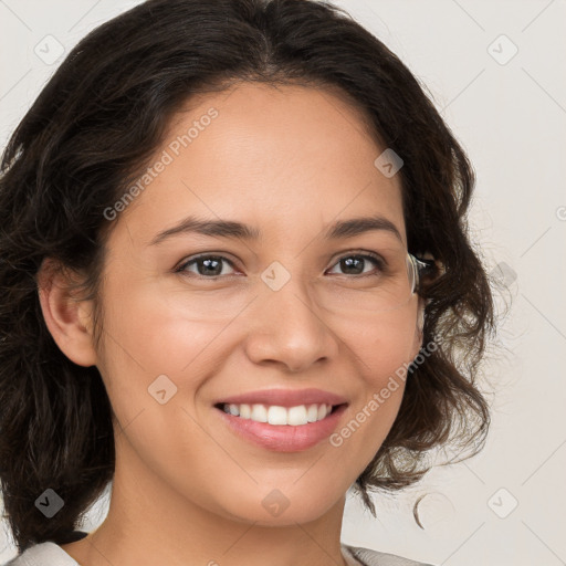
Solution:
<svg viewBox="0 0 566 566">
<path fill-rule="evenodd" d="M 493 304 L 469 160 L 380 41 L 149 0 L 70 53 L 0 182 L 12 565 L 420 564 L 342 544 L 345 495 L 481 448 Z"/>
</svg>

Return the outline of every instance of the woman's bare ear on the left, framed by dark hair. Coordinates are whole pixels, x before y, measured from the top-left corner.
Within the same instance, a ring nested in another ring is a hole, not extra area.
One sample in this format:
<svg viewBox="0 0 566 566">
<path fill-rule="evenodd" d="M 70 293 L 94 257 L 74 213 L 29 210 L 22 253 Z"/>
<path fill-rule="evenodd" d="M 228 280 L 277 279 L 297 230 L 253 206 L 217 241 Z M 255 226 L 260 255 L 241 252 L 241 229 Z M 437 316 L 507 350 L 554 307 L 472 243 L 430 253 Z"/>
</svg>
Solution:
<svg viewBox="0 0 566 566">
<path fill-rule="evenodd" d="M 43 318 L 61 352 L 80 366 L 94 366 L 92 302 L 77 301 L 69 290 L 76 280 L 71 280 L 50 258 L 43 261 L 36 281 Z"/>
</svg>

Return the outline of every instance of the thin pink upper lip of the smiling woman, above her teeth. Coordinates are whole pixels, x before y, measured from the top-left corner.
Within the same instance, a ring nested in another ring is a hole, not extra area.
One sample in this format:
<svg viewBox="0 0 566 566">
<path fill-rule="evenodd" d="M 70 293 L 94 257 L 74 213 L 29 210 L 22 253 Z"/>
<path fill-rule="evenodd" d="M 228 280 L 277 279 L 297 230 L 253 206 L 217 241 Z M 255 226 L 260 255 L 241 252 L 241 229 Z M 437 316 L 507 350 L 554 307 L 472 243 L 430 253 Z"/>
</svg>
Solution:
<svg viewBox="0 0 566 566">
<path fill-rule="evenodd" d="M 296 407 L 298 405 L 343 405 L 346 399 L 323 389 L 263 389 L 249 391 L 220 399 L 216 405 L 276 405 Z"/>
</svg>

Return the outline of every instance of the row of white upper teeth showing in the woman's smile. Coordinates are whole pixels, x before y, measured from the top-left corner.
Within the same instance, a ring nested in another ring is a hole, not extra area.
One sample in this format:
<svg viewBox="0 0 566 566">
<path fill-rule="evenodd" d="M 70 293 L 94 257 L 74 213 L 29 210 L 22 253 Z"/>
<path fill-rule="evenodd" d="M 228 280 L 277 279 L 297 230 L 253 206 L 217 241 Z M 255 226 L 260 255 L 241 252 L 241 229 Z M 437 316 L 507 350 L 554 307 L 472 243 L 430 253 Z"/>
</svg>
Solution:
<svg viewBox="0 0 566 566">
<path fill-rule="evenodd" d="M 297 405 L 295 407 L 281 407 L 279 405 L 223 405 L 224 412 L 241 419 L 251 419 L 256 422 L 269 422 L 281 426 L 298 427 L 308 422 L 323 420 L 332 412 L 332 405 Z"/>
</svg>

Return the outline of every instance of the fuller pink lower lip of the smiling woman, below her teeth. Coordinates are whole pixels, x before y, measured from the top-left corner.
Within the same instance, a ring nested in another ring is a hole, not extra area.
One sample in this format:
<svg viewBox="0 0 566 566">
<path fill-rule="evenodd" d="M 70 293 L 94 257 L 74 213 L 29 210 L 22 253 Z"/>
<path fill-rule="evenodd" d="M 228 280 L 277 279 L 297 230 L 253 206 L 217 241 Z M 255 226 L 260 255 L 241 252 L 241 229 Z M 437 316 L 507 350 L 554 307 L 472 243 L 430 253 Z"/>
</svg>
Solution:
<svg viewBox="0 0 566 566">
<path fill-rule="evenodd" d="M 346 410 L 346 405 L 339 405 L 323 420 L 297 427 L 256 422 L 234 417 L 219 408 L 214 408 L 214 410 L 237 434 L 262 448 L 276 452 L 300 452 L 316 446 L 332 434 L 342 413 Z"/>
</svg>

